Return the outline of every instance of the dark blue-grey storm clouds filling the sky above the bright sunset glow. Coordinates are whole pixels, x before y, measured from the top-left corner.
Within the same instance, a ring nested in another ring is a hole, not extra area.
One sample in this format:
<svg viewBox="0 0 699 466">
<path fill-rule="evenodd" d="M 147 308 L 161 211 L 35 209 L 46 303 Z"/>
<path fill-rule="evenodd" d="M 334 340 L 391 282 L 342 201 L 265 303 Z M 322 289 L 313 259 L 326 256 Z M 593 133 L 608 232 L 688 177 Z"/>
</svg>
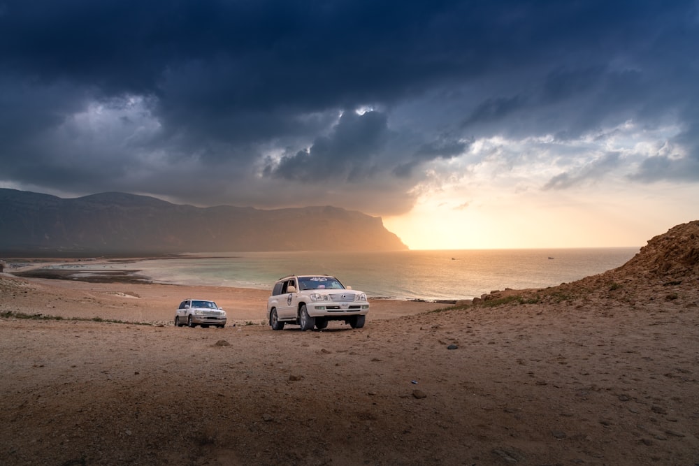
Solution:
<svg viewBox="0 0 699 466">
<path fill-rule="evenodd" d="M 0 0 L 0 183 L 260 206 L 332 185 L 394 213 L 478 138 L 668 119 L 677 150 L 633 179 L 694 182 L 698 45 L 690 0 Z"/>
</svg>

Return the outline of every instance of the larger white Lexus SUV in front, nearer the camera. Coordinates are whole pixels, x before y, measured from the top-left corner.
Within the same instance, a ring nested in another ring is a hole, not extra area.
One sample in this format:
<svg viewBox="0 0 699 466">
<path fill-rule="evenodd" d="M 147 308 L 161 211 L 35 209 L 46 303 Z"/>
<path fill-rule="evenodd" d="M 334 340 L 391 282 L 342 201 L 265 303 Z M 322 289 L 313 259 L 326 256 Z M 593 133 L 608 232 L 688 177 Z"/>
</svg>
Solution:
<svg viewBox="0 0 699 466">
<path fill-rule="evenodd" d="M 267 300 L 267 319 L 273 330 L 284 323 L 310 330 L 323 329 L 329 321 L 345 321 L 362 328 L 369 312 L 366 294 L 353 291 L 329 275 L 289 275 L 274 284 Z"/>
</svg>

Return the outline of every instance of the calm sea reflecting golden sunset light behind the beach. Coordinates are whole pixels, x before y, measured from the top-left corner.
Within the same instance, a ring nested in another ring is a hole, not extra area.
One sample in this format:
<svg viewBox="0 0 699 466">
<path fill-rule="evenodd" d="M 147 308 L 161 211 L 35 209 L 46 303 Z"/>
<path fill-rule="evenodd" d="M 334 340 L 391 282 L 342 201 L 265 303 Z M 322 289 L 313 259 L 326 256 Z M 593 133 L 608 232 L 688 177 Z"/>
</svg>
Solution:
<svg viewBox="0 0 699 466">
<path fill-rule="evenodd" d="M 449 301 L 494 290 L 546 288 L 624 265 L 639 247 L 575 249 L 461 249 L 398 252 L 243 252 L 84 268 L 140 270 L 166 284 L 271 290 L 292 274 L 326 274 L 369 298 Z"/>
</svg>

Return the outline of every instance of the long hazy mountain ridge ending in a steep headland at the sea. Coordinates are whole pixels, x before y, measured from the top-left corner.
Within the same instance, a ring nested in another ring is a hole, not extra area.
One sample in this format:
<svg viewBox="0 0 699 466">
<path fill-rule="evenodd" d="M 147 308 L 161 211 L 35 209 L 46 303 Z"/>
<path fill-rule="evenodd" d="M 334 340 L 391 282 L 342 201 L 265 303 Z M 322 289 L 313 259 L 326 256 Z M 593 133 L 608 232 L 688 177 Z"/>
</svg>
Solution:
<svg viewBox="0 0 699 466">
<path fill-rule="evenodd" d="M 67 199 L 0 189 L 3 254 L 400 249 L 380 217 L 338 207 L 194 207 L 124 193 Z"/>
</svg>

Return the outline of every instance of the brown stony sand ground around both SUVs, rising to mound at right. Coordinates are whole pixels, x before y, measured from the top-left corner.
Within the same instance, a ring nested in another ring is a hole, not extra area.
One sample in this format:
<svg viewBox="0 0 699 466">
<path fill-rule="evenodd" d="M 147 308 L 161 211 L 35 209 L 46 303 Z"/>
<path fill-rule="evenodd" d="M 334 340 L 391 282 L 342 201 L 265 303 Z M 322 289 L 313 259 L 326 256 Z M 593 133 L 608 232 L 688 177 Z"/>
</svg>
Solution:
<svg viewBox="0 0 699 466">
<path fill-rule="evenodd" d="M 0 312 L 156 323 L 0 319 L 0 464 L 699 463 L 699 221 L 572 284 L 373 303 L 361 330 L 245 325 L 266 293 L 226 289 L 204 291 L 236 327 L 175 328 L 198 291 L 0 277 Z"/>
</svg>

